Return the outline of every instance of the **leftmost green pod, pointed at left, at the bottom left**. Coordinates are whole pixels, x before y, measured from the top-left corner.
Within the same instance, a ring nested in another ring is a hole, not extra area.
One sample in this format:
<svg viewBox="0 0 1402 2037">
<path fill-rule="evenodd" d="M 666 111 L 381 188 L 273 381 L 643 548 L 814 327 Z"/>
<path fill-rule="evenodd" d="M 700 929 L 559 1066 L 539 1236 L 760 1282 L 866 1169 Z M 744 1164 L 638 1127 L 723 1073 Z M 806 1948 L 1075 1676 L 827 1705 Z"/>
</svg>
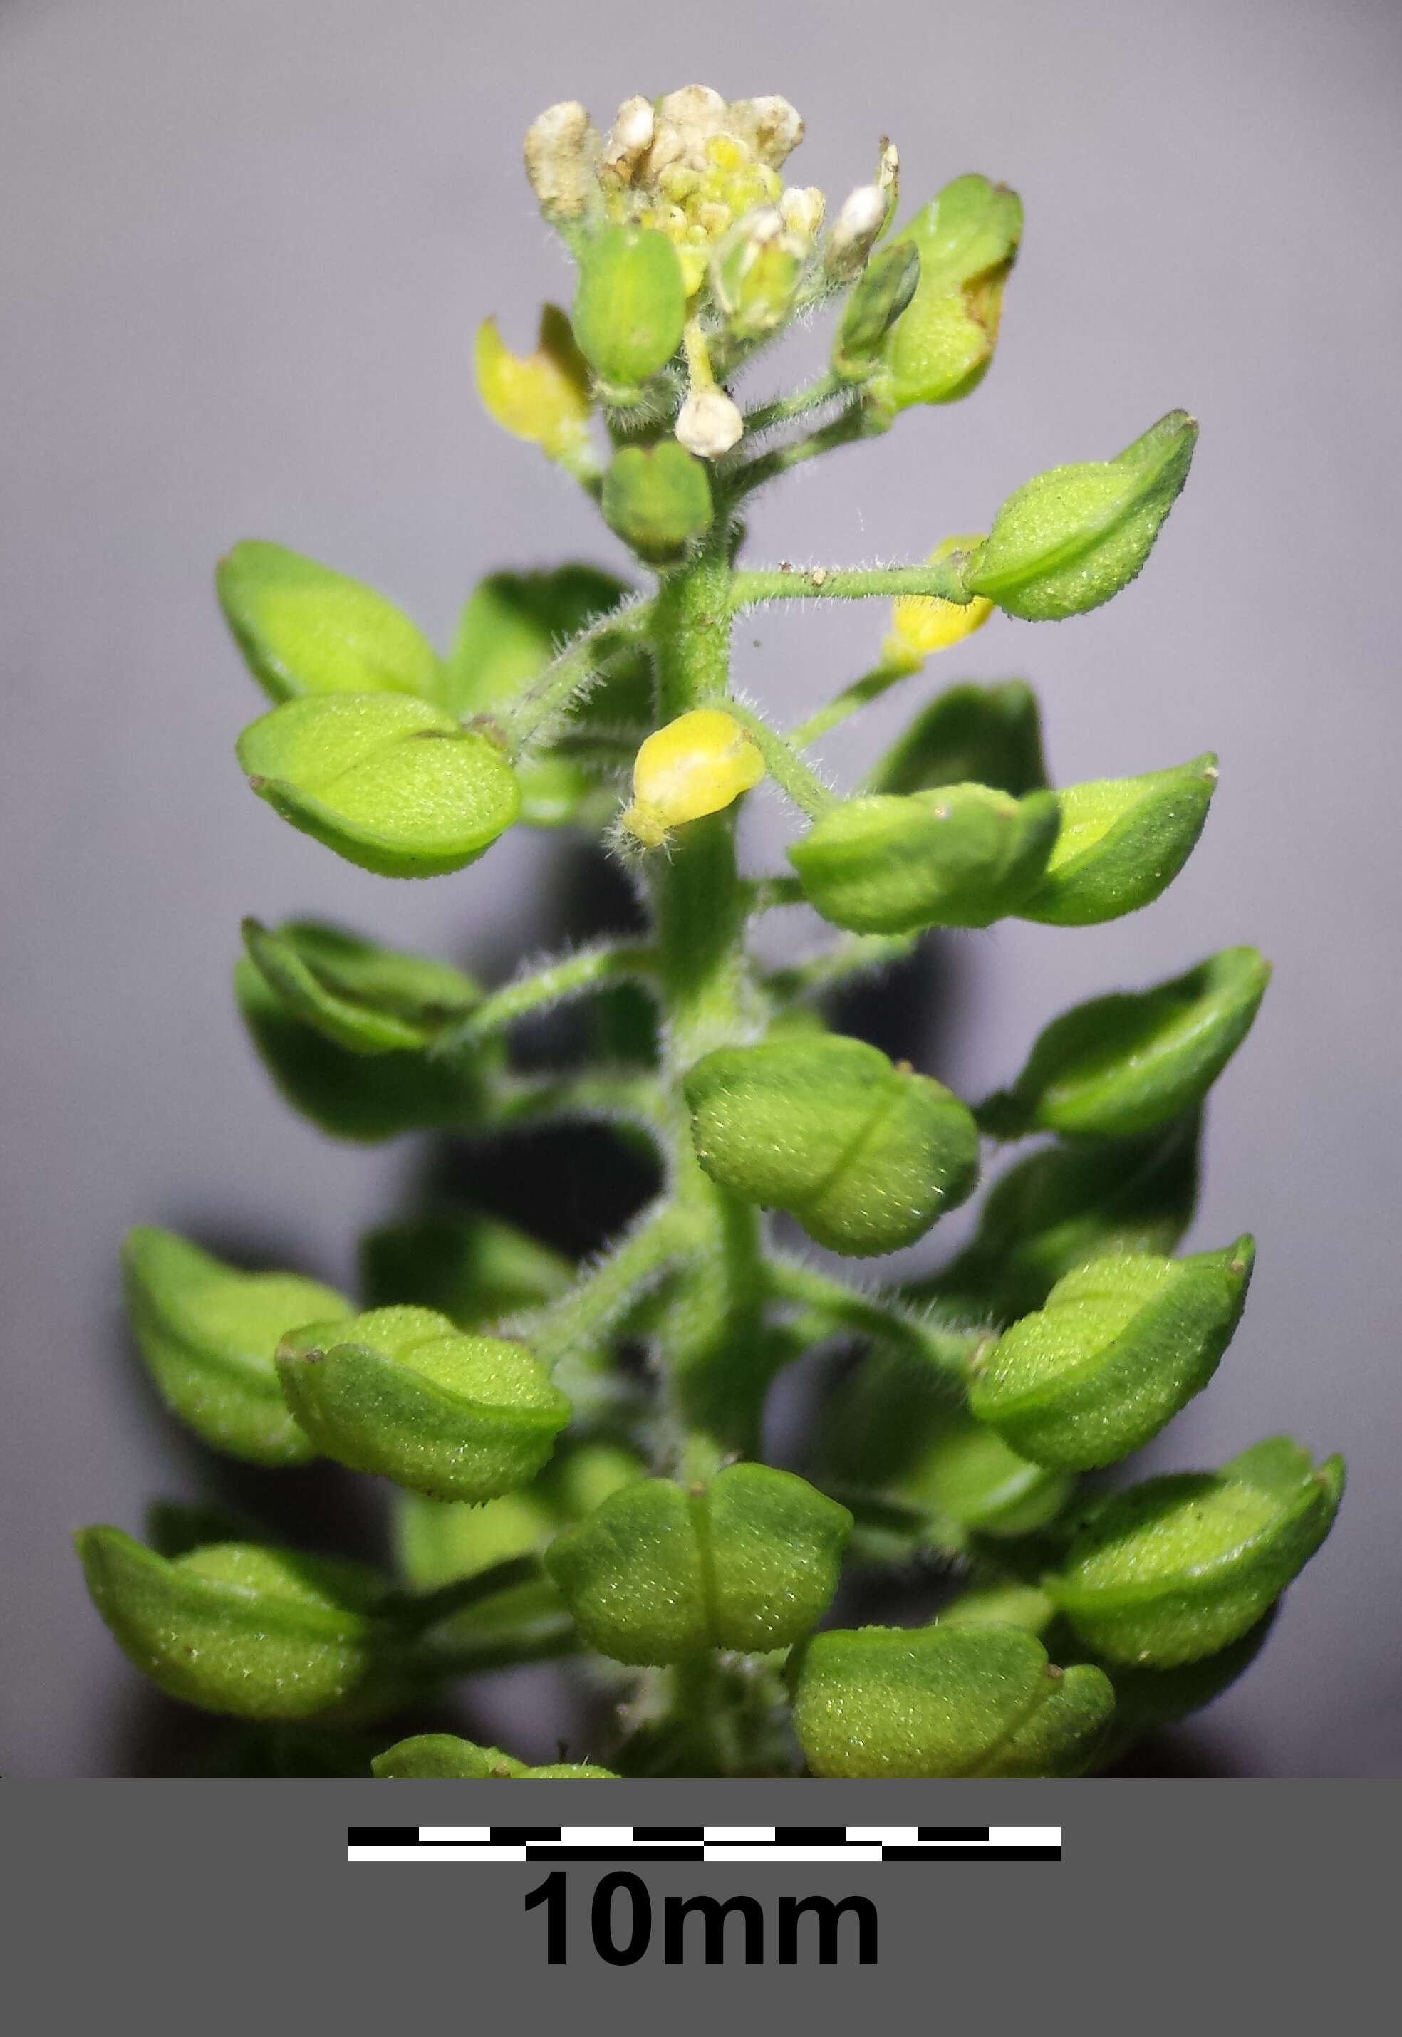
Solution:
<svg viewBox="0 0 1402 2037">
<path fill-rule="evenodd" d="M 373 1571 L 251 1542 L 167 1562 L 120 1528 L 73 1540 L 92 1603 L 167 1697 L 240 1719 L 308 1719 L 369 1697 L 383 1597 Z"/>
</svg>

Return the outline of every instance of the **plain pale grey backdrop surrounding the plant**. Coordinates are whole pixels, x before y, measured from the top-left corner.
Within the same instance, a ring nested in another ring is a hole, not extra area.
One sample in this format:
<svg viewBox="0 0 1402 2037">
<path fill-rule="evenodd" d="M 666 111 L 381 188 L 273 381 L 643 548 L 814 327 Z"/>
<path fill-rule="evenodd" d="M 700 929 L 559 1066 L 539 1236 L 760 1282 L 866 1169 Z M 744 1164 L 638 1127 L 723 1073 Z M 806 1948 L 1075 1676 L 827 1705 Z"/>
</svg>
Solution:
<svg viewBox="0 0 1402 2037">
<path fill-rule="evenodd" d="M 891 132 L 911 200 L 984 169 L 1027 202 L 984 389 L 805 471 L 754 517 L 756 560 L 913 558 L 1172 403 L 1202 422 L 1143 581 L 1074 623 L 994 619 L 937 676 L 1033 676 L 1062 780 L 1217 748 L 1206 835 L 1137 919 L 970 935 L 935 1071 L 978 1092 L 1072 998 L 1229 941 L 1272 955 L 1194 1232 L 1253 1228 L 1259 1271 L 1221 1377 L 1153 1456 L 1282 1428 L 1349 1454 L 1337 1534 L 1200 1740 L 1245 1774 L 1402 1768 L 1400 47 L 1388 6 L 1318 0 L 0 6 L 6 1772 L 128 1758 L 137 1676 L 65 1538 L 192 1489 L 122 1355 L 122 1228 L 216 1224 L 346 1279 L 412 1165 L 275 1102 L 230 1010 L 238 915 L 338 915 L 487 972 L 542 933 L 548 841 L 387 886 L 249 799 L 230 741 L 259 697 L 212 560 L 279 538 L 444 638 L 493 564 L 613 556 L 481 418 L 469 342 L 495 310 L 522 344 L 569 291 L 520 173 L 534 112 L 579 96 L 607 118 L 693 77 L 793 98 L 791 173 L 833 196 Z M 766 615 L 740 676 L 795 713 L 880 627 Z M 844 731 L 833 764 L 901 715 Z M 758 862 L 791 823 L 760 799 L 746 825 Z"/>
</svg>

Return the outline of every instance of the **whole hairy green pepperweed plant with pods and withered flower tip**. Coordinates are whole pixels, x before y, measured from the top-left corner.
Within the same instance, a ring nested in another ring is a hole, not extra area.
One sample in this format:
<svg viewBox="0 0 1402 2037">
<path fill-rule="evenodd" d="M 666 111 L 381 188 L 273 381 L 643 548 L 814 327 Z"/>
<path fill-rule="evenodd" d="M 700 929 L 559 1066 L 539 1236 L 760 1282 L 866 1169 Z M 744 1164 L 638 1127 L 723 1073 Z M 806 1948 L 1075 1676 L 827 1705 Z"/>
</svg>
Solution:
<svg viewBox="0 0 1402 2037">
<path fill-rule="evenodd" d="M 835 986 L 925 929 L 1149 906 L 1217 768 L 1049 788 L 1021 680 L 925 699 L 846 792 L 807 762 L 994 609 L 1056 621 L 1133 581 L 1196 428 L 1170 411 L 1115 458 L 1037 475 L 923 564 L 740 564 L 758 489 L 978 387 L 1023 224 L 978 175 L 897 224 L 884 143 L 829 212 L 783 181 L 801 134 L 780 98 L 689 86 L 628 100 L 607 134 L 569 102 L 526 136 L 575 297 L 528 354 L 487 320 L 479 393 L 593 497 L 640 589 L 581 564 L 497 572 L 438 656 L 279 544 L 220 562 L 271 699 L 238 760 L 275 813 L 385 878 L 463 870 L 514 825 L 591 829 L 646 917 L 491 992 L 338 927 L 251 919 L 234 988 L 273 1082 L 359 1141 L 436 1126 L 499 1147 L 601 1118 L 662 1181 L 583 1265 L 487 1212 L 393 1224 L 363 1247 L 361 1306 L 128 1236 L 137 1342 L 206 1444 L 395 1487 L 393 1579 L 196 1507 L 157 1507 L 151 1546 L 79 1534 L 130 1660 L 251 1721 L 245 1772 L 1078 1774 L 1241 1672 L 1339 1505 L 1339 1458 L 1284 1436 L 1215 1471 L 1082 1479 L 1208 1385 L 1241 1316 L 1251 1238 L 1174 1249 L 1206 1092 L 1265 990 L 1255 949 L 1064 1012 L 982 1102 L 825 1023 Z M 750 367 L 815 310 L 827 369 L 748 401 Z M 893 603 L 866 676 L 791 729 L 732 691 L 736 617 L 852 599 Z M 766 776 L 797 815 L 791 868 L 744 876 L 738 803 Z M 799 902 L 831 943 L 764 968 L 756 919 Z M 511 1033 L 562 1000 L 605 1045 L 532 1071 Z M 1023 1141 L 939 1271 L 870 1277 Z M 766 1212 L 856 1277 L 778 1245 Z M 762 1416 L 817 1346 L 842 1365 L 799 1477 L 762 1461 Z M 825 1626 L 844 1564 L 933 1568 L 948 1603 L 923 1626 Z M 558 1766 L 422 1729 L 475 1672 L 544 1658 L 579 1658 L 593 1701 Z"/>
</svg>

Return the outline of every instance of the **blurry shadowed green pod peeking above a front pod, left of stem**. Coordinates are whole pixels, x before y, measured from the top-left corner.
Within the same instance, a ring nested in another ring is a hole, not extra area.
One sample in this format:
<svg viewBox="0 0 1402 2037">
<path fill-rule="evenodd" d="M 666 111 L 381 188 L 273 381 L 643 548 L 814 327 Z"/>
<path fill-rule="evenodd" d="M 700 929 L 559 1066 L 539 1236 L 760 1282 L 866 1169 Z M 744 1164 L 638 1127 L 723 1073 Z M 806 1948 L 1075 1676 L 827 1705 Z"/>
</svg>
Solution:
<svg viewBox="0 0 1402 2037">
<path fill-rule="evenodd" d="M 495 1216 L 414 1216 L 361 1241 L 367 1308 L 414 1302 L 459 1330 L 477 1330 L 522 1308 L 554 1302 L 575 1267 L 548 1245 Z"/>
</svg>

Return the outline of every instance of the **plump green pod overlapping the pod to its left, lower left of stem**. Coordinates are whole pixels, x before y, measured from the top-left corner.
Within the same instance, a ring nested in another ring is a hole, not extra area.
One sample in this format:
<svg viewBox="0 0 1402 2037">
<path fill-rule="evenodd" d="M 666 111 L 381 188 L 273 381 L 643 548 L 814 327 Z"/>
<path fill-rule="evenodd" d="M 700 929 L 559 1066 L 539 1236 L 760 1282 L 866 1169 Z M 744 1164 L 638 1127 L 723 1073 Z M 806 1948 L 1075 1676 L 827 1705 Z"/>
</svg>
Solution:
<svg viewBox="0 0 1402 2037">
<path fill-rule="evenodd" d="M 277 1351 L 287 1406 L 316 1446 L 434 1499 L 528 1485 L 569 1401 L 526 1344 L 465 1336 L 432 1308 L 375 1308 Z"/>
</svg>

